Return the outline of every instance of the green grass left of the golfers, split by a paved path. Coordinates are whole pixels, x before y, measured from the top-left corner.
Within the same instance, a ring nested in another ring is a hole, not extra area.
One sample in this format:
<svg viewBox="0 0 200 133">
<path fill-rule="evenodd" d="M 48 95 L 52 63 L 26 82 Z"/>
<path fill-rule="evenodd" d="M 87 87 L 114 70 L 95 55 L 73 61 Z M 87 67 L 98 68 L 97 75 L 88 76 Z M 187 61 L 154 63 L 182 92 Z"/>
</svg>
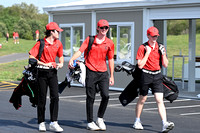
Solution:
<svg viewBox="0 0 200 133">
<path fill-rule="evenodd" d="M 13 39 L 9 38 L 6 43 L 5 38 L 0 38 L 0 56 L 12 53 L 28 53 L 28 51 L 35 45 L 34 40 L 20 39 L 19 44 L 14 44 Z M 28 65 L 28 59 L 23 61 L 14 61 L 10 63 L 0 64 L 0 81 L 19 81 L 22 78 L 22 71 L 24 66 Z"/>
</svg>

